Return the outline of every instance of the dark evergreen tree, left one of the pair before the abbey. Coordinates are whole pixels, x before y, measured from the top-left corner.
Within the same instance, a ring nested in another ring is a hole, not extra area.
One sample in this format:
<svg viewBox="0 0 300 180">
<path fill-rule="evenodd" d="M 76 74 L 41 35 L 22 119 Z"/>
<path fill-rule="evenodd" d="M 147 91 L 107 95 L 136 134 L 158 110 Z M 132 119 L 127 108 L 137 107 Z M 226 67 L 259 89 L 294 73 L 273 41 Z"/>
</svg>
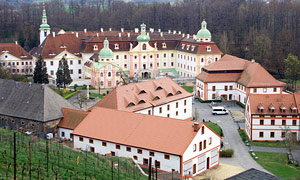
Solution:
<svg viewBox="0 0 300 180">
<path fill-rule="evenodd" d="M 33 82 L 39 84 L 48 84 L 47 67 L 45 66 L 44 59 L 40 55 L 35 63 Z"/>
</svg>

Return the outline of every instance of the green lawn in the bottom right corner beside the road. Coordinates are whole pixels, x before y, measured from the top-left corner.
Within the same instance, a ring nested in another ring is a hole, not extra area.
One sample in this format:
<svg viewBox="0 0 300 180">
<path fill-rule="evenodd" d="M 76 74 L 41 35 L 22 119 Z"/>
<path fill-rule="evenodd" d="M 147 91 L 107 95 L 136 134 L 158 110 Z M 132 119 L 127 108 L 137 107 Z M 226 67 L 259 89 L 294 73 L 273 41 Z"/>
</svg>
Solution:
<svg viewBox="0 0 300 180">
<path fill-rule="evenodd" d="M 255 152 L 256 160 L 262 167 L 283 179 L 293 179 L 300 175 L 300 168 L 287 163 L 284 153 Z"/>
</svg>

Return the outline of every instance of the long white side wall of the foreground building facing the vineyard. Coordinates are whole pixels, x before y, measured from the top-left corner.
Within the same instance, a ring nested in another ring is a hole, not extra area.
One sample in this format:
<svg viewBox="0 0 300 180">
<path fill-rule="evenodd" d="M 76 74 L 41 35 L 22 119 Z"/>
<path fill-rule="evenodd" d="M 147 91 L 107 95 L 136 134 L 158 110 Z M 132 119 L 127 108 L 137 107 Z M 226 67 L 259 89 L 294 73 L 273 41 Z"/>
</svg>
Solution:
<svg viewBox="0 0 300 180">
<path fill-rule="evenodd" d="M 82 150 L 88 150 L 90 151 L 90 147 L 95 148 L 95 153 L 99 154 L 108 154 L 111 153 L 111 151 L 114 151 L 116 153 L 116 156 L 119 157 L 127 157 L 132 158 L 133 156 L 137 156 L 138 159 L 136 160 L 137 163 L 143 164 L 143 158 L 149 159 L 149 157 L 152 157 L 152 164 L 154 164 L 155 160 L 160 162 L 160 170 L 163 171 L 172 171 L 172 169 L 175 169 L 175 171 L 180 171 L 180 157 L 178 155 L 170 155 L 170 159 L 167 160 L 164 158 L 164 154 L 162 152 L 154 152 L 154 156 L 149 155 L 149 150 L 142 149 L 142 154 L 137 153 L 136 147 L 131 147 L 131 152 L 126 151 L 125 145 L 120 145 L 120 149 L 116 149 L 116 144 L 107 142 L 107 146 L 102 146 L 101 140 L 94 139 L 93 144 L 89 143 L 89 138 L 83 137 L 83 142 L 79 141 L 79 136 L 74 135 L 74 148 L 80 148 Z M 167 153 L 166 153 L 167 154 Z"/>
</svg>

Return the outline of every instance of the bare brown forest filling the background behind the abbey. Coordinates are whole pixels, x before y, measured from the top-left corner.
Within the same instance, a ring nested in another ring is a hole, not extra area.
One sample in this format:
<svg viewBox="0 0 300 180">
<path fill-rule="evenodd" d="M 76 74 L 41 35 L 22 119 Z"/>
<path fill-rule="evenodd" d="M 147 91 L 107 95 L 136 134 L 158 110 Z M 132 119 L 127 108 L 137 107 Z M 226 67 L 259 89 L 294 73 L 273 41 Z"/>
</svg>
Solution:
<svg viewBox="0 0 300 180">
<path fill-rule="evenodd" d="M 205 19 L 224 53 L 255 59 L 278 78 L 284 59 L 299 57 L 300 1 L 297 0 L 183 0 L 132 3 L 116 0 L 46 1 L 48 24 L 64 30 L 132 30 L 147 28 L 196 34 Z M 0 3 L 0 42 L 19 43 L 30 50 L 39 43 L 42 3 L 18 7 Z"/>
</svg>

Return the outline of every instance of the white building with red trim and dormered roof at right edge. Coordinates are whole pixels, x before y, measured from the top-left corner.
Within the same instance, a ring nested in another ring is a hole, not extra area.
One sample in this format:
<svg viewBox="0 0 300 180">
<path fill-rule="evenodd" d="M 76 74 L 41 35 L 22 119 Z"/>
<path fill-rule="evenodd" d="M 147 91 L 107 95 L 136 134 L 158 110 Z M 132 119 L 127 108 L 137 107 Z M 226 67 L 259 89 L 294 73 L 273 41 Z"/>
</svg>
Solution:
<svg viewBox="0 0 300 180">
<path fill-rule="evenodd" d="M 282 141 L 287 133 L 300 140 L 300 94 L 250 94 L 245 131 L 251 141 Z"/>
</svg>

